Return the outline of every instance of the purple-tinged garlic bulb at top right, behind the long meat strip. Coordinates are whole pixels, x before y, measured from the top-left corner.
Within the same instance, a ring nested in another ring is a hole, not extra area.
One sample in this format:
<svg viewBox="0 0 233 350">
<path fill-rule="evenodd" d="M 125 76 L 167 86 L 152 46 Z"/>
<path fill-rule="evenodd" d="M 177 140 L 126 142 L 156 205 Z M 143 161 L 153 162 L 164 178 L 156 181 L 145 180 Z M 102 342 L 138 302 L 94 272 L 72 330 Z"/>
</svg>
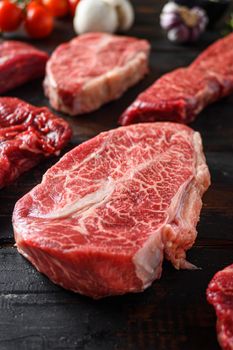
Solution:
<svg viewBox="0 0 233 350">
<path fill-rule="evenodd" d="M 168 2 L 160 15 L 160 25 L 173 42 L 185 43 L 195 41 L 205 31 L 208 17 L 204 9 L 189 9 L 175 2 Z"/>
</svg>

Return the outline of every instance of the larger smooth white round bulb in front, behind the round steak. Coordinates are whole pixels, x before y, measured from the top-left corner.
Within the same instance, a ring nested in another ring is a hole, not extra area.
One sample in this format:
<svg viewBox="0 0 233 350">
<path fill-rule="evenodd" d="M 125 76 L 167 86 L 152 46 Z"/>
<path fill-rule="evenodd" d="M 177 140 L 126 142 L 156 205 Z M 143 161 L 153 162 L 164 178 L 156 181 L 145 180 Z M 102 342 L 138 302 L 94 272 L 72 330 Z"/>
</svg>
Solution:
<svg viewBox="0 0 233 350">
<path fill-rule="evenodd" d="M 114 33 L 118 27 L 118 18 L 115 8 L 103 0 L 81 0 L 73 24 L 77 34 Z"/>
</svg>

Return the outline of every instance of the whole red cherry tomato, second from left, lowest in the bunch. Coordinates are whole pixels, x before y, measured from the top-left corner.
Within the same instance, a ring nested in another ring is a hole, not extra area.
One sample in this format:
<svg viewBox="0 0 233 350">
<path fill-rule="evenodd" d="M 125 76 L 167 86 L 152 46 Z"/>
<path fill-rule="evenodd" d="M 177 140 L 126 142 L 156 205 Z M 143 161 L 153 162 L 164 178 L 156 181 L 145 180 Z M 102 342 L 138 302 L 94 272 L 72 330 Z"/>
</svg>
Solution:
<svg viewBox="0 0 233 350">
<path fill-rule="evenodd" d="M 40 39 L 51 34 L 54 28 L 53 16 L 45 7 L 33 1 L 27 7 L 25 29 L 35 39 Z"/>
</svg>

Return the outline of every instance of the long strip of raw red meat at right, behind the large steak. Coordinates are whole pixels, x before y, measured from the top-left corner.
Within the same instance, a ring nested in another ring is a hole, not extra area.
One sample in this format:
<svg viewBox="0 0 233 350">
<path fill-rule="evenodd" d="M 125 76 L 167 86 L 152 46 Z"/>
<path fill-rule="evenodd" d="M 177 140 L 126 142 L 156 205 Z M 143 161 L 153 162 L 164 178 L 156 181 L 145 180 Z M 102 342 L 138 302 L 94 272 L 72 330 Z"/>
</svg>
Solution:
<svg viewBox="0 0 233 350">
<path fill-rule="evenodd" d="M 165 74 L 120 117 L 121 125 L 189 123 L 208 104 L 233 92 L 233 34 L 209 46 L 188 68 Z"/>
</svg>

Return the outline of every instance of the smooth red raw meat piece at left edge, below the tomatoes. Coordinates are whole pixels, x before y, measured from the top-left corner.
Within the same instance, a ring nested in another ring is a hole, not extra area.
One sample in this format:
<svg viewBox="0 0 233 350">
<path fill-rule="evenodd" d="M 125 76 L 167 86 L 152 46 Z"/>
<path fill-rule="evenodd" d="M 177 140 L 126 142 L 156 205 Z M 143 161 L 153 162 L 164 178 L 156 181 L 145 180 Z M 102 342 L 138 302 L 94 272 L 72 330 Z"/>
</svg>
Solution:
<svg viewBox="0 0 233 350">
<path fill-rule="evenodd" d="M 43 77 L 47 53 L 20 41 L 0 44 L 0 94 Z"/>
</svg>

